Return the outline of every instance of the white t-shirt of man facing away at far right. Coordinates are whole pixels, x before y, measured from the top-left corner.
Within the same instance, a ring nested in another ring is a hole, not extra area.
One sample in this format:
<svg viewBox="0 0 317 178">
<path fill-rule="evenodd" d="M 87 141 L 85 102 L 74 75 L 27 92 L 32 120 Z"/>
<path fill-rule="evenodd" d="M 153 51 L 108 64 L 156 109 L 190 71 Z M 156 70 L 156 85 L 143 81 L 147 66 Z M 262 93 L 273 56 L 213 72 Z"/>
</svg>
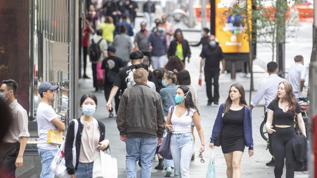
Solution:
<svg viewBox="0 0 317 178">
<path fill-rule="evenodd" d="M 300 79 L 306 79 L 307 70 L 306 67 L 300 63 L 295 63 L 288 71 L 287 81 L 292 84 L 295 97 L 300 97 Z"/>
</svg>

